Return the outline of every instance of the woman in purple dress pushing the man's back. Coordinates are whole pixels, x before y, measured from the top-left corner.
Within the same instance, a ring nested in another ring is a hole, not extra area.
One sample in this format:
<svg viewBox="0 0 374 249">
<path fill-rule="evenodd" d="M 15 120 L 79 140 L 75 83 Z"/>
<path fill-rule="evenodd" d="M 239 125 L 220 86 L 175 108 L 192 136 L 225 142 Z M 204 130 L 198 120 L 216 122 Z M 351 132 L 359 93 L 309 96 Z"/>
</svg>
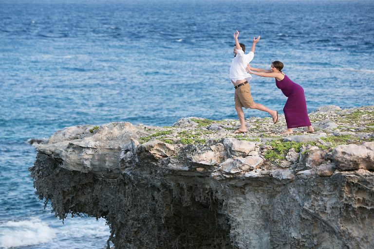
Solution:
<svg viewBox="0 0 374 249">
<path fill-rule="evenodd" d="M 283 94 L 288 97 L 284 105 L 283 112 L 286 118 L 287 130 L 281 134 L 291 134 L 292 128 L 308 126 L 306 132 L 313 133 L 314 129 L 310 124 L 308 112 L 306 109 L 304 89 L 291 81 L 287 75 L 282 72 L 283 63 L 274 61 L 271 63 L 270 70 L 251 68 L 248 64 L 247 71 L 250 74 L 275 78 L 277 88 L 281 89 Z"/>
</svg>

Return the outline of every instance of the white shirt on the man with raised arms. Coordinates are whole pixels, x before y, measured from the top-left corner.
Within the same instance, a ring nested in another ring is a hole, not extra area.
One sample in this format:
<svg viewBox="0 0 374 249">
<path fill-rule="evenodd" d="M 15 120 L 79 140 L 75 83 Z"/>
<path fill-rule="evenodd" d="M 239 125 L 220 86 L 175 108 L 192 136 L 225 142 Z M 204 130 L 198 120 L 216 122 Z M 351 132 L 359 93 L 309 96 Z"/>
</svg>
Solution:
<svg viewBox="0 0 374 249">
<path fill-rule="evenodd" d="M 237 54 L 232 59 L 230 67 L 230 79 L 235 83 L 237 80 L 246 79 L 248 82 L 252 79 L 252 76 L 246 72 L 246 68 L 249 62 L 253 60 L 255 53 L 249 52 L 244 54 L 242 49 L 236 50 Z"/>
</svg>

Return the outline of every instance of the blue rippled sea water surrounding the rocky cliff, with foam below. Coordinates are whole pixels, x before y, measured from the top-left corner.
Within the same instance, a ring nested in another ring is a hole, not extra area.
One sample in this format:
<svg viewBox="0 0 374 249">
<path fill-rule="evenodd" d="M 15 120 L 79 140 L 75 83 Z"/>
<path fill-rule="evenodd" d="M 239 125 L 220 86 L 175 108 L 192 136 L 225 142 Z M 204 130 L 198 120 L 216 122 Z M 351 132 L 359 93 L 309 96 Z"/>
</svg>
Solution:
<svg viewBox="0 0 374 249">
<path fill-rule="evenodd" d="M 28 141 L 71 125 L 236 119 L 235 30 L 247 48 L 261 36 L 252 67 L 282 61 L 309 112 L 374 105 L 372 0 L 0 0 L 0 249 L 103 248 L 104 220 L 43 209 Z M 281 112 L 274 79 L 250 85 Z"/>
</svg>

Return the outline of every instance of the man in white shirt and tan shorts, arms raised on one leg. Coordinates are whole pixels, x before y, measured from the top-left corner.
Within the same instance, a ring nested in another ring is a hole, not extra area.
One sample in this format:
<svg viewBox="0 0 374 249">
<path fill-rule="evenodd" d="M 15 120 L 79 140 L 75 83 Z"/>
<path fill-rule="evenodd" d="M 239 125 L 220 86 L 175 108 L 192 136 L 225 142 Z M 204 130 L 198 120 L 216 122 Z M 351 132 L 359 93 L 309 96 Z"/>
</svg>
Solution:
<svg viewBox="0 0 374 249">
<path fill-rule="evenodd" d="M 253 38 L 252 48 L 248 54 L 244 54 L 245 46 L 243 43 L 239 43 L 238 36 L 239 31 L 236 31 L 237 34 L 234 33 L 234 59 L 231 62 L 230 67 L 230 80 L 231 83 L 234 84 L 235 94 L 235 109 L 238 113 L 238 118 L 240 121 L 240 128 L 236 130 L 234 133 L 246 133 L 247 128 L 245 127 L 244 122 L 244 112 L 243 107 L 245 109 L 258 109 L 262 111 L 268 112 L 271 117 L 273 118 L 274 124 L 278 122 L 278 111 L 271 110 L 267 107 L 262 106 L 261 104 L 257 104 L 253 102 L 250 87 L 248 81 L 252 79 L 252 76 L 246 72 L 246 67 L 249 62 L 255 56 L 255 46 L 256 43 L 260 40 L 260 36 L 256 39 Z"/>
</svg>

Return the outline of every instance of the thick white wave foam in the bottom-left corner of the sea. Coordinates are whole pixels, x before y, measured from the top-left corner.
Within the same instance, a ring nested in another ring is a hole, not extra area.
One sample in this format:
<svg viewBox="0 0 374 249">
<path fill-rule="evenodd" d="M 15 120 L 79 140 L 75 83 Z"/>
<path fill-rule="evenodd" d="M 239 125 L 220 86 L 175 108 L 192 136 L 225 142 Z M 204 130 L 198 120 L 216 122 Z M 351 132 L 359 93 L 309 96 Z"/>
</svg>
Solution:
<svg viewBox="0 0 374 249">
<path fill-rule="evenodd" d="M 0 224 L 1 249 L 46 243 L 55 236 L 56 230 L 37 218 Z"/>
</svg>

